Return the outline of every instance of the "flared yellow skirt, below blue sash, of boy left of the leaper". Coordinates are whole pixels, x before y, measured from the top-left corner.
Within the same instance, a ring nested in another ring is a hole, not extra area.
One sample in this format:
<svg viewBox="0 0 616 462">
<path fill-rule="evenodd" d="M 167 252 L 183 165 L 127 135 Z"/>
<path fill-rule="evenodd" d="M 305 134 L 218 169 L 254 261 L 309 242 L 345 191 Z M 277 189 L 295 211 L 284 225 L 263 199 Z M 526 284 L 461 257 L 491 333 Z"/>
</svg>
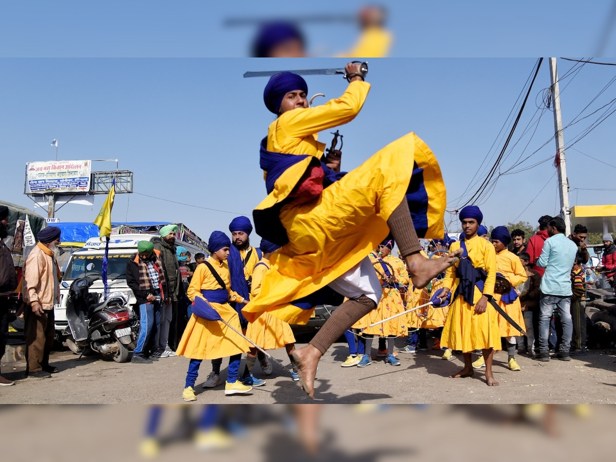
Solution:
<svg viewBox="0 0 616 462">
<path fill-rule="evenodd" d="M 241 332 L 240 317 L 228 304 L 209 302 L 221 318 Z M 194 314 L 188 320 L 176 354 L 190 359 L 217 359 L 248 352 L 245 338 L 220 321 L 208 321 Z"/>
</svg>

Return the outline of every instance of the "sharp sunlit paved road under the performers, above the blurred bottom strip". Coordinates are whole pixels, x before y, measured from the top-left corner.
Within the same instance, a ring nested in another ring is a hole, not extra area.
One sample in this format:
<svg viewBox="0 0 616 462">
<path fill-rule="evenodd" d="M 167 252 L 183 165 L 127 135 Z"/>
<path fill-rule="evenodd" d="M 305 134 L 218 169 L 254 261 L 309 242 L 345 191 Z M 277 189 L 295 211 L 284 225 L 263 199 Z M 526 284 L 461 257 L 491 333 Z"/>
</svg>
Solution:
<svg viewBox="0 0 616 462">
<path fill-rule="evenodd" d="M 301 346 L 302 344 L 298 344 Z M 399 347 L 403 346 L 399 339 Z M 366 368 L 341 368 L 345 343 L 335 343 L 323 356 L 317 374 L 316 402 L 323 403 L 614 403 L 616 351 L 593 351 L 569 362 L 537 362 L 518 357 L 521 371 L 506 368 L 506 352 L 495 356 L 495 376 L 501 385 L 488 387 L 483 372 L 472 378 L 450 379 L 462 366 L 461 357 L 440 359 L 438 351 L 400 354 L 402 365 L 382 360 Z M 225 397 L 223 386 L 202 389 L 209 371 L 203 362 L 197 379 L 197 403 L 307 403 L 310 400 L 291 380 L 284 349 L 272 352 L 274 373 L 265 377 L 257 363 L 255 375 L 267 379 L 249 395 Z M 461 356 L 461 355 L 460 355 Z M 118 364 L 100 356 L 78 360 L 70 351 L 52 353 L 60 372 L 52 378 L 24 378 L 23 360 L 2 364 L 2 374 L 17 381 L 0 388 L 0 403 L 182 403 L 188 367 L 184 357 L 163 358 L 153 364 Z M 223 362 L 222 376 L 227 362 Z M 243 366 L 242 366 L 243 368 Z"/>
</svg>

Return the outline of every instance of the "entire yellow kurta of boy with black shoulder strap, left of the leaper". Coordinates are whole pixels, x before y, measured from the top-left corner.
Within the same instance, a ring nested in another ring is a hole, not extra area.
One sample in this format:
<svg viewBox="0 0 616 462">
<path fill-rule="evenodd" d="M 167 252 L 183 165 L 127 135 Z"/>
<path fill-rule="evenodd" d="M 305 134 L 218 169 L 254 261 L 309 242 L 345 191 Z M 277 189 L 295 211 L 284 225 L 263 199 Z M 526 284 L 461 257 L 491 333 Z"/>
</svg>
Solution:
<svg viewBox="0 0 616 462">
<path fill-rule="evenodd" d="M 229 300 L 241 302 L 241 296 L 229 289 L 231 277 L 227 262 L 217 262 L 213 258 L 208 259 L 208 262 L 227 286 Z M 195 269 L 195 274 L 188 285 L 187 296 L 190 301 L 194 301 L 197 297 L 205 299 L 201 290 L 220 288 L 221 285 L 211 274 L 208 265 L 201 264 Z M 241 332 L 240 317 L 229 303 L 209 302 L 209 304 L 221 315 L 222 319 Z M 217 359 L 248 352 L 249 347 L 250 344 L 245 338 L 233 332 L 221 321 L 208 321 L 193 314 L 184 329 L 176 354 L 190 359 Z"/>
</svg>

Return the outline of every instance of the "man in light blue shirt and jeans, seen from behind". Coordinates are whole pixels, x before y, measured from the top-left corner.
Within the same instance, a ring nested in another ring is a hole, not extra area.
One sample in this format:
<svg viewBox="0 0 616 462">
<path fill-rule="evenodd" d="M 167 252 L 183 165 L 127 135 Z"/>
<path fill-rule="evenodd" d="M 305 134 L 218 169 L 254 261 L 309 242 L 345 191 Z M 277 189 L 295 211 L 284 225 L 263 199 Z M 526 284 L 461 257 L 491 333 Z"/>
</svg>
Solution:
<svg viewBox="0 0 616 462">
<path fill-rule="evenodd" d="M 577 246 L 564 235 L 565 222 L 561 217 L 553 217 L 548 222 L 549 238 L 543 244 L 537 266 L 545 268 L 541 278 L 541 301 L 539 313 L 539 354 L 540 361 L 549 361 L 549 320 L 554 306 L 561 315 L 562 340 L 557 359 L 569 361 L 569 344 L 573 333 L 571 320 L 571 269 L 575 261 Z"/>
</svg>

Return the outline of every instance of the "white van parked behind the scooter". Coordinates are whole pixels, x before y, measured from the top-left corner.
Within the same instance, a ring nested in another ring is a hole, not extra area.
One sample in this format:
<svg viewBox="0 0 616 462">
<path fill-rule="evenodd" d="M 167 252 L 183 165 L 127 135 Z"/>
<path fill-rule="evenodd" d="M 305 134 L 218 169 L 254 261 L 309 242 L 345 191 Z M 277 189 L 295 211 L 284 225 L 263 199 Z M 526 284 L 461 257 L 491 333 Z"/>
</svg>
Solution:
<svg viewBox="0 0 616 462">
<path fill-rule="evenodd" d="M 123 292 L 129 304 L 134 305 L 137 303 L 132 290 L 126 285 L 126 263 L 137 253 L 139 241 L 151 241 L 156 237 L 158 237 L 157 234 L 118 234 L 111 236 L 107 258 L 108 294 Z M 203 249 L 180 240 L 176 240 L 176 246 L 185 247 L 193 256 L 199 252 L 205 253 Z M 70 286 L 73 280 L 78 278 L 86 276 L 100 277 L 102 274 L 104 255 L 105 243 L 101 242 L 97 237 L 88 239 L 83 248 L 75 251 L 71 255 L 62 276 L 62 282 L 66 282 L 67 285 Z M 90 287 L 91 292 L 100 294 L 103 294 L 104 290 L 102 279 L 95 281 Z M 68 288 L 63 287 L 62 283 L 60 283 L 60 303 L 54 307 L 56 331 L 62 332 L 68 326 L 67 298 Z"/>
</svg>

